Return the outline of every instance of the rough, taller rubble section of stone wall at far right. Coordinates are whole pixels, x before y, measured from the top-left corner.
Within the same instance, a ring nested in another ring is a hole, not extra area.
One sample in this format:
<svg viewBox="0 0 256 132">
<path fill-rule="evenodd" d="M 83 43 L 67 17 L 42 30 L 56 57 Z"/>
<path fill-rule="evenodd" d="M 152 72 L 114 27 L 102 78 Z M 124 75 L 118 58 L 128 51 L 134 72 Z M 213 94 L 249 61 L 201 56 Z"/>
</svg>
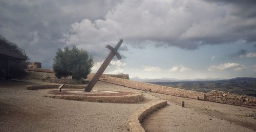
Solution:
<svg viewBox="0 0 256 132">
<path fill-rule="evenodd" d="M 227 104 L 236 104 L 243 106 L 250 106 L 256 108 L 256 98 L 248 95 L 238 95 L 229 92 L 212 90 L 206 93 L 205 100 L 222 102 Z"/>
</svg>

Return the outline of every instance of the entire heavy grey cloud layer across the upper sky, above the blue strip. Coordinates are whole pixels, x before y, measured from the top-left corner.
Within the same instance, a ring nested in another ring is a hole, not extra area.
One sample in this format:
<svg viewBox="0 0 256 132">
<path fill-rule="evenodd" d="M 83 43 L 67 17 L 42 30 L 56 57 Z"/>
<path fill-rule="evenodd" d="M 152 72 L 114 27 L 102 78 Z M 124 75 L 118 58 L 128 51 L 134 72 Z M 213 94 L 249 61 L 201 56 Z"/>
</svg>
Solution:
<svg viewBox="0 0 256 132">
<path fill-rule="evenodd" d="M 256 42 L 255 14 L 254 1 L 0 0 L 0 34 L 51 67 L 57 48 L 67 45 L 101 61 L 104 46 L 120 39 L 120 50 Z"/>
</svg>

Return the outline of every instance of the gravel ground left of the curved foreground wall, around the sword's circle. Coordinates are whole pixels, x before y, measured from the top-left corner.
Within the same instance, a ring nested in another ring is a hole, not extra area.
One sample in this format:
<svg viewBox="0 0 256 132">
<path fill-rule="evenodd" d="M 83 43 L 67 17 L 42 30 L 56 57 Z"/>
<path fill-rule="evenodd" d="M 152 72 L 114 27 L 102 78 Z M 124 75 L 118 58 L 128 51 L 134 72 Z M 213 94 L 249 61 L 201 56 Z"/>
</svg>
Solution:
<svg viewBox="0 0 256 132">
<path fill-rule="evenodd" d="M 130 115 L 156 97 L 147 93 L 141 103 L 100 103 L 43 97 L 49 89 L 27 90 L 27 85 L 53 84 L 40 81 L 0 80 L 1 131 L 127 131 Z M 141 92 L 98 82 L 95 90 Z"/>
</svg>

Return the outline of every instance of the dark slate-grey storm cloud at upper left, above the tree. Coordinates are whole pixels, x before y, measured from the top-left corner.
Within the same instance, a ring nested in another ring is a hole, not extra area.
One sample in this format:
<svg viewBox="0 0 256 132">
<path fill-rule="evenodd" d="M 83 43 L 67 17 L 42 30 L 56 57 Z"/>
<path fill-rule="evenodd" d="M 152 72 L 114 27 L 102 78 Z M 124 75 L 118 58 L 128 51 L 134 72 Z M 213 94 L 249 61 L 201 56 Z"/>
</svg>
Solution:
<svg viewBox="0 0 256 132">
<path fill-rule="evenodd" d="M 84 18 L 104 19 L 116 1 L 0 1 L 0 34 L 26 50 L 32 61 L 51 67 L 59 41 Z"/>
</svg>

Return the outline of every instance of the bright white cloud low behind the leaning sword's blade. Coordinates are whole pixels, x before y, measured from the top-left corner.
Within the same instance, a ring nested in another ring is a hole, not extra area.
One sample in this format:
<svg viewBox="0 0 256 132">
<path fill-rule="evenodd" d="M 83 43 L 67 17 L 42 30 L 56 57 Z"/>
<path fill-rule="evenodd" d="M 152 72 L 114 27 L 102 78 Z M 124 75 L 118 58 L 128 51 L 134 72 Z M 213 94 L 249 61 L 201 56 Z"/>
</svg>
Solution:
<svg viewBox="0 0 256 132">
<path fill-rule="evenodd" d="M 95 62 L 94 66 L 92 67 L 92 73 L 96 73 L 100 66 L 102 65 L 102 62 Z M 110 62 L 110 65 L 106 68 L 104 73 L 109 73 L 109 74 L 118 74 L 118 73 L 123 73 L 123 68 L 126 66 L 125 62 L 122 62 L 120 60 L 115 61 L 112 60 Z"/>
</svg>

